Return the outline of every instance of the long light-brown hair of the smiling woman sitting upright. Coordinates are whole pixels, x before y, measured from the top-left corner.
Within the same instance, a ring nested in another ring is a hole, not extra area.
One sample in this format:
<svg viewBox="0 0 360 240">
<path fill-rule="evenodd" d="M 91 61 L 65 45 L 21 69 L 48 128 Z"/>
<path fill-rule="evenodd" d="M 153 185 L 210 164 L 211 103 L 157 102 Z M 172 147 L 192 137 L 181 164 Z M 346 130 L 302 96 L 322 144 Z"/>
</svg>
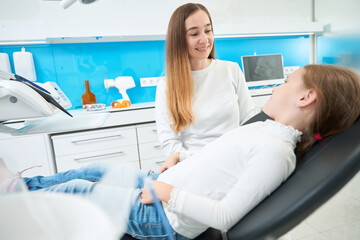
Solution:
<svg viewBox="0 0 360 240">
<path fill-rule="evenodd" d="M 194 12 L 208 10 L 201 4 L 187 3 L 180 6 L 172 14 L 166 35 L 166 101 L 172 128 L 175 132 L 194 121 L 192 111 L 193 79 L 186 41 L 185 20 Z M 209 55 L 215 58 L 214 47 Z"/>
</svg>

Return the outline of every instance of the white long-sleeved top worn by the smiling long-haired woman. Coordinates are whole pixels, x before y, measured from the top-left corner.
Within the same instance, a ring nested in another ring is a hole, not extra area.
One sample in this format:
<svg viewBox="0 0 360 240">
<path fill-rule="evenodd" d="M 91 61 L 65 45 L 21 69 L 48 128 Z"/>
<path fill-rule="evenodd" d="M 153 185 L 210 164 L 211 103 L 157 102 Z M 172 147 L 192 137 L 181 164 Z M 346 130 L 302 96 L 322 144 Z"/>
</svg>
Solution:
<svg viewBox="0 0 360 240">
<path fill-rule="evenodd" d="M 194 121 L 179 133 L 171 129 L 166 103 L 166 84 L 156 91 L 158 137 L 168 157 L 176 152 L 199 150 L 255 114 L 244 76 L 235 62 L 212 60 L 202 70 L 192 71 Z"/>
</svg>

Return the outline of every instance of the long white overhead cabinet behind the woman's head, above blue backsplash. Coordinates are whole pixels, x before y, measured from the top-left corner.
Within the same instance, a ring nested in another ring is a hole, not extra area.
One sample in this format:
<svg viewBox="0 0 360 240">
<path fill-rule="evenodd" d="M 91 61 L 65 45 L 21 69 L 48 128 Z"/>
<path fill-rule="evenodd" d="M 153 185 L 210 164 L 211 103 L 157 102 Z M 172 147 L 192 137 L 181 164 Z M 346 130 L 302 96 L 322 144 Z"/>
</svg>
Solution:
<svg viewBox="0 0 360 240">
<path fill-rule="evenodd" d="M 311 22 L 311 0 L 199 3 L 211 13 L 216 37 L 303 34 L 323 28 Z M 64 10 L 59 1 L 39 2 L 45 35 L 52 43 L 165 40 L 170 17 L 182 4 L 180 0 L 103 0 L 87 5 L 76 2 Z"/>
</svg>

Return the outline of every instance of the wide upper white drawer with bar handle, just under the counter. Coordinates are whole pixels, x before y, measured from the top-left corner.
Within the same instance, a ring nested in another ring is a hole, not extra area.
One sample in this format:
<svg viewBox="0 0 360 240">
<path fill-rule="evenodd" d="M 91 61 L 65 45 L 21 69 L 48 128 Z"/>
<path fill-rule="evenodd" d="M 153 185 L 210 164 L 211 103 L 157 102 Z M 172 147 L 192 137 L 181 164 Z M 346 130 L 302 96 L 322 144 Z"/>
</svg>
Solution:
<svg viewBox="0 0 360 240">
<path fill-rule="evenodd" d="M 55 156 L 86 153 L 137 143 L 135 128 L 115 128 L 53 136 Z"/>
</svg>

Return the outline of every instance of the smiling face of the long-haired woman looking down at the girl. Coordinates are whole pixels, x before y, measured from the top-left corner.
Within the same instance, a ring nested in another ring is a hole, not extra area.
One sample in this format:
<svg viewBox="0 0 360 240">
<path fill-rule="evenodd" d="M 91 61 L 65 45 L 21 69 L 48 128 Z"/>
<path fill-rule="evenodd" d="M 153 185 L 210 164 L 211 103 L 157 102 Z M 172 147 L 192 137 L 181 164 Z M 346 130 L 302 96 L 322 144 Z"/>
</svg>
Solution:
<svg viewBox="0 0 360 240">
<path fill-rule="evenodd" d="M 193 60 L 206 60 L 214 45 L 214 35 L 206 12 L 199 10 L 185 20 L 186 40 Z"/>
</svg>

